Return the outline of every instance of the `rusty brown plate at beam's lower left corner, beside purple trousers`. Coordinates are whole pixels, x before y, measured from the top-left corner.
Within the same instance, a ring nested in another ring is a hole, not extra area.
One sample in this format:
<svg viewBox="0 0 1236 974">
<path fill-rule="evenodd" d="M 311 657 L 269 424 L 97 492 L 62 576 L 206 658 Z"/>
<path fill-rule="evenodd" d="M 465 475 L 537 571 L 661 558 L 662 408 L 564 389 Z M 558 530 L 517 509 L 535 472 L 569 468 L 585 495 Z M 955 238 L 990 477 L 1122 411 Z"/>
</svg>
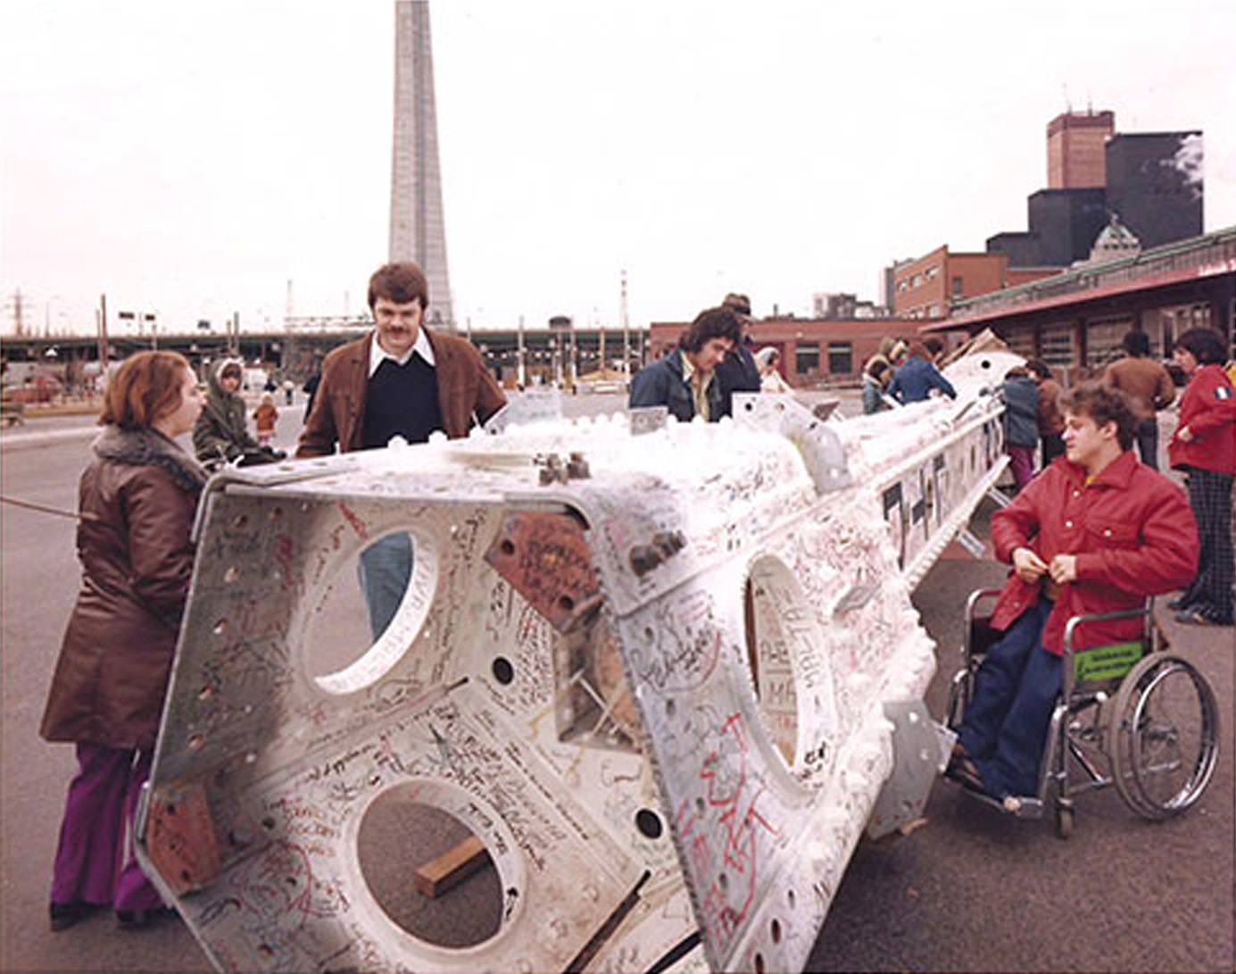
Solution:
<svg viewBox="0 0 1236 974">
<path fill-rule="evenodd" d="M 180 896 L 219 875 L 219 845 L 201 785 L 164 785 L 151 796 L 146 845 L 164 883 Z"/>
</svg>

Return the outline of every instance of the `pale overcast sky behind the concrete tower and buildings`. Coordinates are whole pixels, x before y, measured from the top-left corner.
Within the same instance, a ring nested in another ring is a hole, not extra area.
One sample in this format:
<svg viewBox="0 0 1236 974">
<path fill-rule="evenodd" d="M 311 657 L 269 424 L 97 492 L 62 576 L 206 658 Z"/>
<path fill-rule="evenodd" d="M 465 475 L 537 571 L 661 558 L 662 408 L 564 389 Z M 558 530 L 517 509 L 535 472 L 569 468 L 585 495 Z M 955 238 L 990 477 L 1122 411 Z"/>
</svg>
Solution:
<svg viewBox="0 0 1236 974">
<path fill-rule="evenodd" d="M 1205 131 L 1236 224 L 1236 2 L 435 0 L 456 318 L 806 314 L 1026 229 L 1046 125 Z M 0 287 L 40 331 L 363 309 L 386 260 L 393 0 L 0 0 Z"/>
</svg>

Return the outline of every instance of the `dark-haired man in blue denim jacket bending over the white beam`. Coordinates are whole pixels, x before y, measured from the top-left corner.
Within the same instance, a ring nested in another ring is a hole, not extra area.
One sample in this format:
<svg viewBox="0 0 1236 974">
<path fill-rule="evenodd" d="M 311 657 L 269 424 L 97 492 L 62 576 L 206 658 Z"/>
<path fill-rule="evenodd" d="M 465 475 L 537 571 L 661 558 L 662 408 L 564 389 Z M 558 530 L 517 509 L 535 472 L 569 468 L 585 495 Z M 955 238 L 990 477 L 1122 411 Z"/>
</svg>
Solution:
<svg viewBox="0 0 1236 974">
<path fill-rule="evenodd" d="M 635 373 L 628 408 L 664 405 L 682 423 L 697 415 L 716 423 L 724 414 L 716 370 L 742 339 L 743 326 L 729 308 L 701 311 L 677 349 Z"/>
</svg>

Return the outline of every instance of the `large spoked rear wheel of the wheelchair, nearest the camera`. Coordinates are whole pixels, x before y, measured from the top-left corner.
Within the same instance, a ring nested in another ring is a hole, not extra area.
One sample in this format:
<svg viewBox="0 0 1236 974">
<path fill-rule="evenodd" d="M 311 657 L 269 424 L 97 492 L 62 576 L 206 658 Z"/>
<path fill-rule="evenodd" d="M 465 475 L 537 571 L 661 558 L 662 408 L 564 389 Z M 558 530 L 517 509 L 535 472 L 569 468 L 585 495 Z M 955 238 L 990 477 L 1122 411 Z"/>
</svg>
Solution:
<svg viewBox="0 0 1236 974">
<path fill-rule="evenodd" d="M 1146 818 L 1190 808 L 1219 758 L 1219 708 L 1188 660 L 1146 656 L 1116 692 L 1109 724 L 1111 775 L 1125 803 Z"/>
</svg>

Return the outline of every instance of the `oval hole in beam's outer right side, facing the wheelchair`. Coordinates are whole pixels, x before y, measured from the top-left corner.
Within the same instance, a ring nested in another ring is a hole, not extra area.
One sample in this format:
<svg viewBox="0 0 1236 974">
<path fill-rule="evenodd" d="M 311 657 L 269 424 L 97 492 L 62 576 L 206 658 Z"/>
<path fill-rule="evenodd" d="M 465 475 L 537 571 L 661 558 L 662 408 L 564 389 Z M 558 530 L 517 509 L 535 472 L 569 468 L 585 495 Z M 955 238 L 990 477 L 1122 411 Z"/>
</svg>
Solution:
<svg viewBox="0 0 1236 974">
<path fill-rule="evenodd" d="M 791 619 L 792 625 L 787 624 Z M 786 765 L 792 766 L 803 753 L 802 744 L 818 745 L 821 735 L 831 735 L 837 718 L 827 665 L 806 667 L 810 680 L 800 686 L 801 661 L 817 655 L 824 640 L 802 587 L 779 559 L 764 555 L 751 564 L 743 622 L 760 726 Z M 805 716 L 800 719 L 803 697 Z"/>
</svg>

